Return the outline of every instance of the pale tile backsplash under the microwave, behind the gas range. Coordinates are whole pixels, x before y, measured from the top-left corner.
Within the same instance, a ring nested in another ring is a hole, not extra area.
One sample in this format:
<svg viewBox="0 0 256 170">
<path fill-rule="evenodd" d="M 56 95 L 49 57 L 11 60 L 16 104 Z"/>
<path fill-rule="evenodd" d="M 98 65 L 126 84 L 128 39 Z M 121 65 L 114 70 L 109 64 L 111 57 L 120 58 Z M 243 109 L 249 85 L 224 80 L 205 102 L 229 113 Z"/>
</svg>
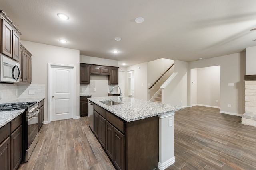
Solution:
<svg viewBox="0 0 256 170">
<path fill-rule="evenodd" d="M 0 84 L 0 103 L 17 98 L 44 98 L 45 84 Z"/>
</svg>

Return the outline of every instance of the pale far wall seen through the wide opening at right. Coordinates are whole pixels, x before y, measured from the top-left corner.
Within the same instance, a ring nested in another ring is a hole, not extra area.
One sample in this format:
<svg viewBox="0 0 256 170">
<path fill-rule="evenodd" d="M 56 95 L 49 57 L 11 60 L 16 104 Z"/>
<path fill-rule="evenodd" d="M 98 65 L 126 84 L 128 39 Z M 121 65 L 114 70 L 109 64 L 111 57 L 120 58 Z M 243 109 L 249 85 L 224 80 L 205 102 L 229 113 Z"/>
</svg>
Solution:
<svg viewBox="0 0 256 170">
<path fill-rule="evenodd" d="M 196 91 L 198 105 L 220 108 L 220 66 L 197 69 Z"/>
</svg>

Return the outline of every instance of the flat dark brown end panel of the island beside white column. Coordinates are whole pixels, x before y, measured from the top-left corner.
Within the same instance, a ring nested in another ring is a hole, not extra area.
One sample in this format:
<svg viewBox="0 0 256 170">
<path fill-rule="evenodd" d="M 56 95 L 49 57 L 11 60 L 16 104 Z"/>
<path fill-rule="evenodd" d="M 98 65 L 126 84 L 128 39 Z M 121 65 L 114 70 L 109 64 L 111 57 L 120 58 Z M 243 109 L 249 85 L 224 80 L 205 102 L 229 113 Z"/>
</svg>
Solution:
<svg viewBox="0 0 256 170">
<path fill-rule="evenodd" d="M 126 122 L 126 170 L 153 170 L 158 167 L 158 116 Z"/>
</svg>

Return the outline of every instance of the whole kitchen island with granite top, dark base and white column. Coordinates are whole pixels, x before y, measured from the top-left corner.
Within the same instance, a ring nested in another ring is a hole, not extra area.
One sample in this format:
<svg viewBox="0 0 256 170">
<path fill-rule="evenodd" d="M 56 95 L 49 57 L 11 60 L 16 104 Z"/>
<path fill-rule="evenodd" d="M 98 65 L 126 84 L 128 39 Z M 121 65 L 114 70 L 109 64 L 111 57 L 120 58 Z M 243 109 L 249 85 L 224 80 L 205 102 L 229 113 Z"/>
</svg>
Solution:
<svg viewBox="0 0 256 170">
<path fill-rule="evenodd" d="M 88 100 L 94 134 L 117 169 L 163 170 L 175 162 L 173 117 L 183 107 L 119 96 Z"/>
</svg>

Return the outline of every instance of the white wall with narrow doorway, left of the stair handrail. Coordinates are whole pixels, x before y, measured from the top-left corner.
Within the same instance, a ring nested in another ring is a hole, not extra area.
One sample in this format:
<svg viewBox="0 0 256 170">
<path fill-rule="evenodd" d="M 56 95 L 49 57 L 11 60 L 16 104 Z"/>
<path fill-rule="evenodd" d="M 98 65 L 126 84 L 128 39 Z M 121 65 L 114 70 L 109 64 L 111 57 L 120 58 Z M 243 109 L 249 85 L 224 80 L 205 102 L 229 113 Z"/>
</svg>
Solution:
<svg viewBox="0 0 256 170">
<path fill-rule="evenodd" d="M 147 100 L 148 98 L 148 86 L 147 86 L 147 72 L 148 72 L 148 62 L 136 64 L 126 68 L 126 73 L 128 71 L 134 70 L 134 82 L 135 82 L 135 95 L 134 98 Z M 126 75 L 127 75 L 126 74 Z M 127 76 L 128 77 L 128 76 Z M 128 82 L 127 82 L 128 83 Z M 126 83 L 126 87 L 128 84 Z M 126 88 L 126 94 L 128 94 L 128 89 Z"/>
</svg>

